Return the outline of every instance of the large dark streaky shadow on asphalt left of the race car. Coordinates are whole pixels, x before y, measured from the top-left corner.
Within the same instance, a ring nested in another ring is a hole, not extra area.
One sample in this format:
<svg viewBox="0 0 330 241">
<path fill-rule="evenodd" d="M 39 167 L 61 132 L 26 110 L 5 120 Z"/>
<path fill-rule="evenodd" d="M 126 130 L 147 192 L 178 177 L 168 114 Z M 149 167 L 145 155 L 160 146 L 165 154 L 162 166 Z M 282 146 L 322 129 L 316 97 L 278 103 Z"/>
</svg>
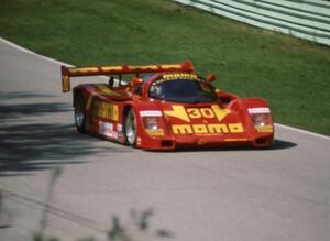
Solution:
<svg viewBox="0 0 330 241">
<path fill-rule="evenodd" d="M 73 111 L 68 103 L 35 102 L 35 99 L 31 102 L 29 98 L 45 98 L 45 95 L 32 92 L 23 92 L 22 96 L 14 92 L 6 96 L 9 105 L 0 106 L 0 177 L 29 175 L 26 173 L 29 171 L 84 163 L 86 158 L 81 161 L 82 157 L 100 152 L 125 151 L 98 146 L 96 143 L 100 140 L 78 133 L 74 123 L 52 123 L 52 119 L 56 119 L 54 113 Z M 23 105 L 12 105 L 14 101 L 10 101 L 10 96 L 26 98 L 26 101 L 23 101 Z M 45 117 L 48 123 L 43 123 Z"/>
</svg>

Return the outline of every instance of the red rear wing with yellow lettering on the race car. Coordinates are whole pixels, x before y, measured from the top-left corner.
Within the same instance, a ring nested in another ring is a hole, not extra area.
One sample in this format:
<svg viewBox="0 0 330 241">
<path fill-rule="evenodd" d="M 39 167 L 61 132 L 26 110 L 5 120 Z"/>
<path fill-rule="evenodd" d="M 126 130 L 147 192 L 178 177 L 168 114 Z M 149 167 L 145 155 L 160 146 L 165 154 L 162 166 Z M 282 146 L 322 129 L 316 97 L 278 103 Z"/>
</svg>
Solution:
<svg viewBox="0 0 330 241">
<path fill-rule="evenodd" d="M 189 61 L 182 64 L 165 65 L 118 65 L 118 66 L 98 66 L 98 67 L 61 67 L 62 72 L 62 91 L 70 91 L 70 77 L 96 76 L 96 75 L 124 75 L 124 74 L 145 74 L 164 72 L 194 72 L 194 66 Z"/>
</svg>

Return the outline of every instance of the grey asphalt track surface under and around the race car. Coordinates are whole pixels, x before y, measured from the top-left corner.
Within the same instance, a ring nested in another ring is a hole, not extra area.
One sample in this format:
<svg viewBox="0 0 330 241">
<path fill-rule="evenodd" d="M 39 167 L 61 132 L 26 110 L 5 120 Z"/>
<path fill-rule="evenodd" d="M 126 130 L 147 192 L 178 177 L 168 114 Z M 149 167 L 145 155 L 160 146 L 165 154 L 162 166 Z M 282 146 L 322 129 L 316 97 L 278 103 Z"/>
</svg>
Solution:
<svg viewBox="0 0 330 241">
<path fill-rule="evenodd" d="M 1 241 L 107 240 L 113 215 L 134 240 L 330 240 L 329 138 L 277 125 L 268 151 L 146 152 L 81 135 L 59 63 L 3 41 L 0 87 Z M 130 210 L 150 208 L 145 235 Z"/>
</svg>

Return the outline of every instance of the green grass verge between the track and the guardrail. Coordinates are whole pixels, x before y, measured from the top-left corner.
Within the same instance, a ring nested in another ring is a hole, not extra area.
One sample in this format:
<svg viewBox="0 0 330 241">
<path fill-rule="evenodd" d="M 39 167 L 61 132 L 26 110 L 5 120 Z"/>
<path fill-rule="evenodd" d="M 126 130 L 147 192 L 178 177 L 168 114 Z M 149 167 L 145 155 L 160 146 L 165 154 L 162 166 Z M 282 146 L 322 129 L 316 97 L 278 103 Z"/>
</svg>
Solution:
<svg viewBox="0 0 330 241">
<path fill-rule="evenodd" d="M 170 0 L 4 0 L 0 36 L 75 65 L 191 59 L 219 88 L 267 99 L 276 122 L 330 135 L 326 46 Z"/>
</svg>

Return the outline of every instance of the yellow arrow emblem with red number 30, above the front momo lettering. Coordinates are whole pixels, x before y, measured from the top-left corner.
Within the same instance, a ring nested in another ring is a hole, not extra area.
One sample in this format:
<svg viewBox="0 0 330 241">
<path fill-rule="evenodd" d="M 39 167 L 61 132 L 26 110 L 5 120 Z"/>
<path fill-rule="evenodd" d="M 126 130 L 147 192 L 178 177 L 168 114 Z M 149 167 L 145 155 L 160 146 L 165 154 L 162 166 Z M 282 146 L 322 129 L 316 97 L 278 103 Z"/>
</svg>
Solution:
<svg viewBox="0 0 330 241">
<path fill-rule="evenodd" d="M 165 110 L 164 113 L 167 117 L 174 117 L 186 122 L 190 122 L 190 119 L 213 119 L 220 122 L 229 113 L 229 109 L 221 109 L 219 105 L 212 105 L 211 108 L 187 108 L 183 106 L 173 106 L 173 110 Z"/>
</svg>

